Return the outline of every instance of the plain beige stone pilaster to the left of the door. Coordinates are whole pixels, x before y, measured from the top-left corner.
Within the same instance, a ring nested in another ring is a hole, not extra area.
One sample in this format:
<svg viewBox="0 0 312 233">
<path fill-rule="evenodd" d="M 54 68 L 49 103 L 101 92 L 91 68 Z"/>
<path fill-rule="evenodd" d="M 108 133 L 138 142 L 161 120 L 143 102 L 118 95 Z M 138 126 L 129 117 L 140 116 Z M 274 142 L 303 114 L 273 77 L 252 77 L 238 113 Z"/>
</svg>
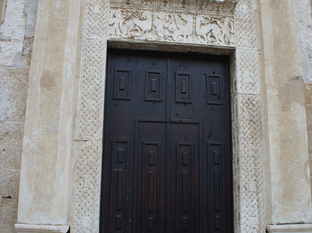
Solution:
<svg viewBox="0 0 312 233">
<path fill-rule="evenodd" d="M 38 3 L 23 141 L 19 223 L 66 225 L 69 221 L 67 193 L 79 18 L 77 1 Z M 46 77 L 43 82 L 42 75 Z M 51 77 L 53 85 L 46 82 Z"/>
</svg>

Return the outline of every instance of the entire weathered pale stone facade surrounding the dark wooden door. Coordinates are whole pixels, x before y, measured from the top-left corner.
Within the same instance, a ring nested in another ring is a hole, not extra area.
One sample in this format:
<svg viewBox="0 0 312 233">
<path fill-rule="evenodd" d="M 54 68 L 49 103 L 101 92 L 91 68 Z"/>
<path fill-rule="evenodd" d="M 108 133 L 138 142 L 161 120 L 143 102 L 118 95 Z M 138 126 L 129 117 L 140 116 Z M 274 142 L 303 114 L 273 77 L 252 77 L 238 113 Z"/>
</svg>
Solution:
<svg viewBox="0 0 312 233">
<path fill-rule="evenodd" d="M 0 26 L 7 232 L 20 170 L 18 232 L 99 231 L 107 47 L 228 55 L 235 232 L 312 232 L 309 0 L 39 0 L 32 52 L 36 11 Z"/>
</svg>

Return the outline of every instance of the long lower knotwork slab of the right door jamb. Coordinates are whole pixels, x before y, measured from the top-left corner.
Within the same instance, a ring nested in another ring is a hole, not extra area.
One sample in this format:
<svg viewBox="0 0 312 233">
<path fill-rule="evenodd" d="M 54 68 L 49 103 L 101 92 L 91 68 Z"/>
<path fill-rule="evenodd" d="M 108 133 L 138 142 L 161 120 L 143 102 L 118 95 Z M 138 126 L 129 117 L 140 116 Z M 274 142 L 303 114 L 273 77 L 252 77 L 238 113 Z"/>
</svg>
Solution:
<svg viewBox="0 0 312 233">
<path fill-rule="evenodd" d="M 234 173 L 234 176 L 239 175 L 240 180 L 238 185 L 234 182 L 235 189 L 240 189 L 236 190 L 236 193 L 239 193 L 236 195 L 241 195 L 240 232 L 258 233 L 264 231 L 260 97 L 238 94 L 237 103 L 240 155 L 238 161 L 234 159 L 233 165 L 241 169 Z M 233 150 L 236 153 L 235 147 Z"/>
</svg>

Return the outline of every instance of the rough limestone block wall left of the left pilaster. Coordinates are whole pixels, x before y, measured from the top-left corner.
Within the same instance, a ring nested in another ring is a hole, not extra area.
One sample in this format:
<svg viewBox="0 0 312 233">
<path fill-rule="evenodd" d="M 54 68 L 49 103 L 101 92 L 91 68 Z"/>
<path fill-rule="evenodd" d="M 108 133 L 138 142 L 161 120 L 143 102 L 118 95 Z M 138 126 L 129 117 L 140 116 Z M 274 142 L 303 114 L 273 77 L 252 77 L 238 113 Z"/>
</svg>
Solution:
<svg viewBox="0 0 312 233">
<path fill-rule="evenodd" d="M 17 222 L 27 85 L 37 4 L 38 0 L 7 0 L 3 4 L 5 14 L 0 25 L 1 233 L 16 232 L 14 224 Z"/>
</svg>

